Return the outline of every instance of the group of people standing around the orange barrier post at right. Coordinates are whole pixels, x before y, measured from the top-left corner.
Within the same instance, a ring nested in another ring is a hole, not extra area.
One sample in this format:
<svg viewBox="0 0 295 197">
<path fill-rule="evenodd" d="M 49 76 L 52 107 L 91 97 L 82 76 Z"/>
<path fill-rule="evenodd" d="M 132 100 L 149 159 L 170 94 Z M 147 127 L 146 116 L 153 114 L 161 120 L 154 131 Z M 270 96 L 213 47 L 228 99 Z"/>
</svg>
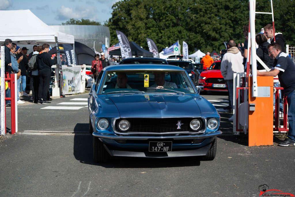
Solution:
<svg viewBox="0 0 295 197">
<path fill-rule="evenodd" d="M 226 110 L 232 110 L 233 106 L 233 74 L 244 72 L 247 69 L 246 59 L 248 56 L 248 32 L 249 26 L 244 26 L 245 42 L 239 43 L 236 47 L 234 40 L 227 42 L 227 51 L 222 57 L 221 61 L 221 74 L 226 81 L 229 92 L 229 106 Z M 256 55 L 263 63 L 271 69 L 270 71 L 260 72 L 260 69 L 265 69 L 259 62 L 257 63 L 258 76 L 278 76 L 281 87 L 284 88 L 283 94 L 287 96 L 288 103 L 288 119 L 289 119 L 289 132 L 286 140 L 278 143 L 280 146 L 295 146 L 295 64 L 290 56 L 286 53 L 285 38 L 283 34 L 278 32 L 274 33 L 275 29 L 272 24 L 266 25 L 255 36 Z M 274 87 L 278 87 L 276 83 Z M 273 101 L 275 105 L 275 97 Z M 280 97 L 280 113 L 283 113 L 283 105 Z M 233 116 L 229 118 L 233 120 Z"/>
</svg>

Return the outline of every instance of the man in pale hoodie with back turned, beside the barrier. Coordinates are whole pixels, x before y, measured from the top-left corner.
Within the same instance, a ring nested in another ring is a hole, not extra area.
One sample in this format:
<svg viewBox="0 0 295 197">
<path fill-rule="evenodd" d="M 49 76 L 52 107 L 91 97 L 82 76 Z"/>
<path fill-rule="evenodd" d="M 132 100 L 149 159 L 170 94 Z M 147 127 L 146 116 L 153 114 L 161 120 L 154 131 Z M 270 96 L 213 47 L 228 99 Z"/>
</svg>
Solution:
<svg viewBox="0 0 295 197">
<path fill-rule="evenodd" d="M 244 72 L 243 57 L 240 50 L 236 47 L 234 40 L 227 42 L 227 52 L 221 61 L 221 74 L 226 81 L 230 104 L 233 106 L 234 97 L 234 73 Z M 233 120 L 233 117 L 229 119 Z"/>
</svg>

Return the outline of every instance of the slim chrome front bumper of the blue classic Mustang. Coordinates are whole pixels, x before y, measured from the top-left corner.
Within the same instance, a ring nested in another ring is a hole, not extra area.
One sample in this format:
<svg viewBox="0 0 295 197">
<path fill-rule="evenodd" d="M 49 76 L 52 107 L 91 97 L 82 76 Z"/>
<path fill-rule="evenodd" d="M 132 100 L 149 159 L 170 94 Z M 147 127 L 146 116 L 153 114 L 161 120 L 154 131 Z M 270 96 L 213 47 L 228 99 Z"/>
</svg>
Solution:
<svg viewBox="0 0 295 197">
<path fill-rule="evenodd" d="M 204 138 L 210 138 L 214 136 L 219 136 L 221 135 L 221 131 L 216 131 L 212 133 L 204 133 L 200 135 L 187 135 L 187 136 L 132 136 L 132 135 L 116 135 L 116 134 L 108 134 L 108 133 L 97 133 L 93 132 L 92 135 L 95 137 L 99 138 L 107 138 L 107 139 L 115 139 L 115 140 L 120 140 L 120 139 L 127 139 L 127 140 L 147 140 L 147 139 L 204 139 Z"/>
</svg>

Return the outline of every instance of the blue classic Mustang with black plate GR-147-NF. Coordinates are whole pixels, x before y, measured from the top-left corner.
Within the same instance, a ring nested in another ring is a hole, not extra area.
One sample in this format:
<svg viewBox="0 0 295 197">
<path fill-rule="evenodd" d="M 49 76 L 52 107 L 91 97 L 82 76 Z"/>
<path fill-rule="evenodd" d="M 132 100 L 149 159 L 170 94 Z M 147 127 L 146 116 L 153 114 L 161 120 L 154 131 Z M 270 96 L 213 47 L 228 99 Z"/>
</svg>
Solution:
<svg viewBox="0 0 295 197">
<path fill-rule="evenodd" d="M 111 156 L 213 160 L 220 116 L 176 66 L 107 66 L 92 85 L 89 132 L 95 162 Z"/>
</svg>

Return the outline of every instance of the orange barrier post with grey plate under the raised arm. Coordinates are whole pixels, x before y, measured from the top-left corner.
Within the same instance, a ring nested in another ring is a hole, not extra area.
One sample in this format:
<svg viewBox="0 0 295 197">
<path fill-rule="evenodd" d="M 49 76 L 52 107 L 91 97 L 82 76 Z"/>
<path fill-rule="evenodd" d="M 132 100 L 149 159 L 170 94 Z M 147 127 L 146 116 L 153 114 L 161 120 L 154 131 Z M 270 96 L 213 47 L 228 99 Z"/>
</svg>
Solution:
<svg viewBox="0 0 295 197">
<path fill-rule="evenodd" d="M 249 77 L 248 146 L 273 145 L 273 77 L 257 76 L 258 97 Z"/>
</svg>

